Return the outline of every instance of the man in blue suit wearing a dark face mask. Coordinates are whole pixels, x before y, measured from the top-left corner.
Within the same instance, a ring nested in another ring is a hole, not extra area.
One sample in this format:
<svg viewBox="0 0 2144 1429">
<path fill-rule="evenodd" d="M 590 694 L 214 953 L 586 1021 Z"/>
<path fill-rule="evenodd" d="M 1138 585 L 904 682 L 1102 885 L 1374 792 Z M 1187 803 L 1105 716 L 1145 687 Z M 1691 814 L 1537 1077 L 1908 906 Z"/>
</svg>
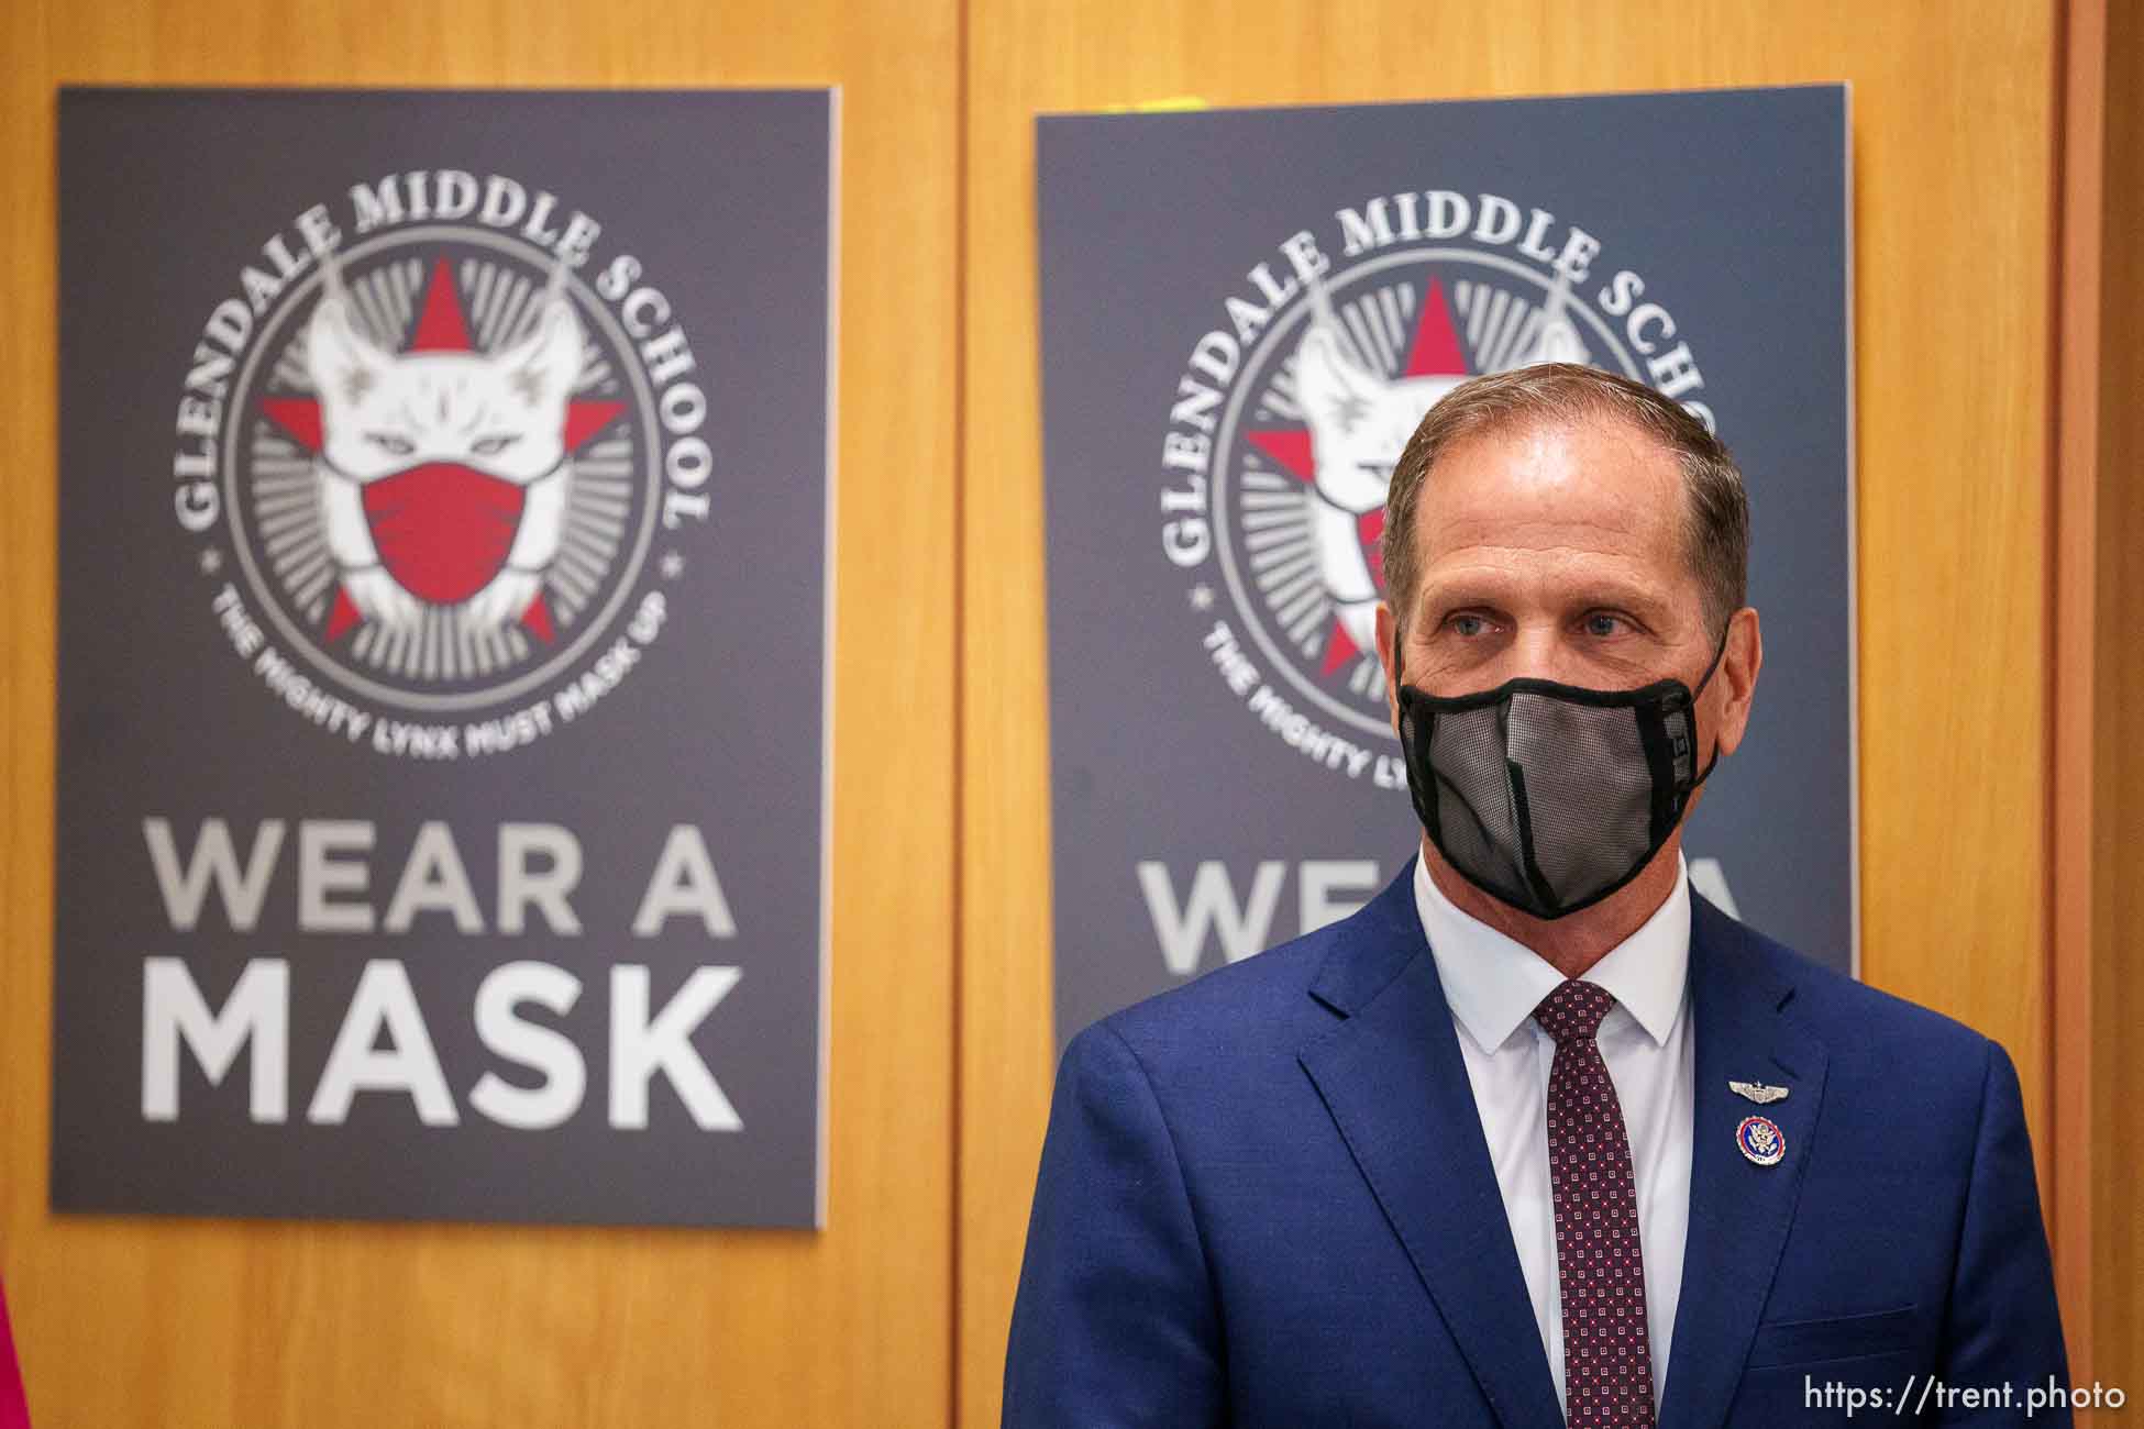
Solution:
<svg viewBox="0 0 2144 1429">
<path fill-rule="evenodd" d="M 1419 859 L 1072 1041 L 1006 1423 L 2069 1423 L 2002 1048 L 1689 889 L 1762 666 L 1732 458 L 1533 366 L 1385 510 Z"/>
</svg>

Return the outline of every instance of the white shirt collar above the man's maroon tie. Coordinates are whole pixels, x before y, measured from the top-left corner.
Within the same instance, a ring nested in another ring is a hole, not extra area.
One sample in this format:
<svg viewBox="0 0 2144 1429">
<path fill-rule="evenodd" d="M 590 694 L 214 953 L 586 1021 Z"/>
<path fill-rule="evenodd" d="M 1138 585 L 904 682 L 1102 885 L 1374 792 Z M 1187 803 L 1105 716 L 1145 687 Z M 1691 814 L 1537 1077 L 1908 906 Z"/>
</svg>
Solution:
<svg viewBox="0 0 2144 1429">
<path fill-rule="evenodd" d="M 1436 960 L 1451 1016 L 1492 1052 L 1563 983 L 1546 958 L 1460 911 L 1415 859 L 1415 913 Z M 1689 866 L 1674 855 L 1674 885 L 1638 932 L 1584 971 L 1614 994 L 1655 1046 L 1666 1046 L 1689 979 Z"/>
</svg>

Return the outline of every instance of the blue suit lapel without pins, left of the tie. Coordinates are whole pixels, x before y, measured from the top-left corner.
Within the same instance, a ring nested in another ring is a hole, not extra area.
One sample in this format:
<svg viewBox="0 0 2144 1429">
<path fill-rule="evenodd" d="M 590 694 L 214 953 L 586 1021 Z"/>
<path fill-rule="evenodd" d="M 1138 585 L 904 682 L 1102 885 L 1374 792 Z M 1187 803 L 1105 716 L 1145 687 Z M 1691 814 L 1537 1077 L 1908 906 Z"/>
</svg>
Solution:
<svg viewBox="0 0 2144 1429">
<path fill-rule="evenodd" d="M 1563 1423 L 1458 1033 L 1415 913 L 1413 861 L 1312 996 L 1344 1022 L 1301 1052 L 1355 1163 L 1505 1425 Z"/>
</svg>

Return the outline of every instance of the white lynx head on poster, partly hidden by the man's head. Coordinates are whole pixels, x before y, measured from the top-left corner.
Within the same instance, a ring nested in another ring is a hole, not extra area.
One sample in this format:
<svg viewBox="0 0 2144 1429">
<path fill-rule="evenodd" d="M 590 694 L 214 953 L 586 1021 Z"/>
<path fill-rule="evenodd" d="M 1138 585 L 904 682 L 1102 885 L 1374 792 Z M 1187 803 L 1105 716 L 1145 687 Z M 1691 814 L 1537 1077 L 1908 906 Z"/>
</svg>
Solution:
<svg viewBox="0 0 2144 1429">
<path fill-rule="evenodd" d="M 1584 362 L 1587 349 L 1563 313 L 1563 289 L 1550 294 L 1539 330 L 1505 364 Z M 1379 585 L 1370 570 L 1370 533 L 1364 516 L 1383 512 L 1391 467 L 1421 416 L 1451 388 L 1454 377 L 1385 377 L 1357 360 L 1355 347 L 1323 289 L 1312 291 L 1312 317 L 1295 347 L 1295 396 L 1310 426 L 1316 463 L 1316 499 L 1310 531 L 1319 572 L 1340 628 L 1355 649 L 1376 649 Z"/>
</svg>

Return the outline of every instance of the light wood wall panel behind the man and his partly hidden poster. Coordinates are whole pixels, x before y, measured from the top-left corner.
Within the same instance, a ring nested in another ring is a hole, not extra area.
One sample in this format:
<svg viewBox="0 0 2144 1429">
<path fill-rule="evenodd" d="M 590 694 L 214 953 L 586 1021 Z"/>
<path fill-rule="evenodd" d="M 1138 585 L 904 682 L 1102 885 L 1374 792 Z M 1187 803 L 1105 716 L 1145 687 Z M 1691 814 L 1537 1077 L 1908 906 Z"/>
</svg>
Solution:
<svg viewBox="0 0 2144 1429">
<path fill-rule="evenodd" d="M 2054 62 L 2054 0 L 971 9 L 963 1425 L 997 1423 L 1053 1071 L 1033 114 L 1852 84 L 1863 975 L 2011 1050 L 2048 1185 Z"/>
</svg>

